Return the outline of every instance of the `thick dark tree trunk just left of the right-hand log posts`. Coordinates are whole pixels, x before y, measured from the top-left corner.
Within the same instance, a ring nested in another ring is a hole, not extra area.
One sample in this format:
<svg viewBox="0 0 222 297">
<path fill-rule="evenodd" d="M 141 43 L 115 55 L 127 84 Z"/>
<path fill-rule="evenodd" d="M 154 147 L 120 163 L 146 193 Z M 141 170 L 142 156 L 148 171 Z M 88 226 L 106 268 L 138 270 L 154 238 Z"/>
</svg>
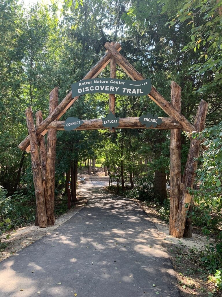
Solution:
<svg viewBox="0 0 222 297">
<path fill-rule="evenodd" d="M 161 203 L 167 198 L 166 192 L 166 173 L 162 171 L 155 170 L 154 173 L 154 196 Z"/>
</svg>

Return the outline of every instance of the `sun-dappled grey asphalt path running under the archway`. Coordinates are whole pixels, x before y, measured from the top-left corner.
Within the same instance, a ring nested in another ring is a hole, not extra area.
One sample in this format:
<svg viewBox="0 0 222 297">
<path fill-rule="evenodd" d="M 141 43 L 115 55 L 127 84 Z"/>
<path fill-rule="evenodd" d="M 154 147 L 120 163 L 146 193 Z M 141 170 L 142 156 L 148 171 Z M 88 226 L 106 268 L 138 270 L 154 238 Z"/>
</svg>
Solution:
<svg viewBox="0 0 222 297">
<path fill-rule="evenodd" d="M 109 194 L 104 184 L 81 185 L 86 207 L 0 262 L 1 297 L 180 296 L 153 223 L 137 203 Z"/>
</svg>

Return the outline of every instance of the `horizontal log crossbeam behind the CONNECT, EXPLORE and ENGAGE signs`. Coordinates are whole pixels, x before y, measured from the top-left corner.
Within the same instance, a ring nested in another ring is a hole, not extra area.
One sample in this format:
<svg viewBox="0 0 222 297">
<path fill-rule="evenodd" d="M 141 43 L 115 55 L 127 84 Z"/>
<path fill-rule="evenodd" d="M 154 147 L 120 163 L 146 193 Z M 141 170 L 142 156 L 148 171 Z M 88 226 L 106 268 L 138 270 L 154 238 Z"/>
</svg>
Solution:
<svg viewBox="0 0 222 297">
<path fill-rule="evenodd" d="M 120 118 L 119 126 L 116 129 L 182 129 L 182 126 L 178 123 L 178 121 L 172 118 L 160 118 L 162 119 L 162 123 L 157 125 L 156 128 L 149 127 L 147 128 L 145 125 L 141 124 L 139 118 L 137 117 L 129 117 L 129 118 Z M 93 130 L 93 129 L 108 129 L 102 125 L 102 119 L 92 119 L 92 120 L 83 120 L 83 124 L 74 130 Z M 47 129 L 57 129 L 57 130 L 65 130 L 65 121 L 53 121 Z"/>
</svg>

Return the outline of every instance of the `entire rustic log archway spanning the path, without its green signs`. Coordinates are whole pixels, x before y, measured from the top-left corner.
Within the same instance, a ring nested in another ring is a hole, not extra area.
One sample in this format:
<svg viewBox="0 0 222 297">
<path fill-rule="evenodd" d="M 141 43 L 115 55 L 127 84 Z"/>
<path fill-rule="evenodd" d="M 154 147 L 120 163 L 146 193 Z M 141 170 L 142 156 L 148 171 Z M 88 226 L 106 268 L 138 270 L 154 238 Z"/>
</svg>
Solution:
<svg viewBox="0 0 222 297">
<path fill-rule="evenodd" d="M 96 78 L 96 76 L 111 63 L 110 77 L 115 78 L 115 64 L 117 63 L 132 80 L 143 80 L 141 75 L 120 53 L 121 45 L 117 42 L 107 42 L 104 47 L 107 52 L 102 59 L 91 68 L 83 80 Z M 189 189 L 194 186 L 195 171 L 197 169 L 197 158 L 199 157 L 201 141 L 192 138 L 192 132 L 200 132 L 204 129 L 207 113 L 207 102 L 201 100 L 197 110 L 194 125 L 180 113 L 181 88 L 172 81 L 171 103 L 168 102 L 152 86 L 149 96 L 165 113 L 168 118 L 161 118 L 162 123 L 155 129 L 170 129 L 170 235 L 181 238 L 184 235 L 187 211 L 191 205 L 192 197 Z M 25 110 L 29 135 L 19 144 L 19 148 L 26 152 L 31 152 L 33 181 L 36 193 L 36 205 L 39 226 L 44 228 L 54 225 L 54 175 L 55 175 L 55 144 L 56 130 L 64 130 L 65 121 L 58 121 L 67 109 L 79 98 L 72 98 L 72 92 L 58 103 L 58 88 L 50 93 L 49 116 L 43 121 L 41 112 L 38 111 L 36 127 L 34 124 L 31 107 Z M 115 95 L 110 94 L 110 111 L 115 114 Z M 139 118 L 120 118 L 117 128 L 146 128 L 139 122 Z M 83 120 L 83 124 L 76 130 L 85 129 L 107 129 L 102 126 L 102 120 Z M 181 181 L 181 130 L 190 133 L 191 144 Z M 112 129 L 112 131 L 114 131 Z M 48 148 L 46 151 L 44 135 L 48 132 Z M 38 153 L 40 148 L 40 157 Z"/>
</svg>

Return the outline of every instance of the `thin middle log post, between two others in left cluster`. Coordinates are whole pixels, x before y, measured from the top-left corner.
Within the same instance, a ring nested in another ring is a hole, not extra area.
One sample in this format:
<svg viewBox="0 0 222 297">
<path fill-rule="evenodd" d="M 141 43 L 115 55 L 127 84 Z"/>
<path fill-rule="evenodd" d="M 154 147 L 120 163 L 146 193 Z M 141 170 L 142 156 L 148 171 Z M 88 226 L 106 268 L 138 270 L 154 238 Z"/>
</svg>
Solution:
<svg viewBox="0 0 222 297">
<path fill-rule="evenodd" d="M 43 121 L 42 118 L 42 111 L 38 110 L 36 113 L 36 127 L 38 127 L 41 122 Z M 45 189 L 45 180 L 46 180 L 46 142 L 45 138 L 41 138 L 38 143 L 39 147 L 39 156 L 41 162 L 41 172 L 42 172 L 42 182 L 43 182 L 43 189 Z"/>
</svg>

